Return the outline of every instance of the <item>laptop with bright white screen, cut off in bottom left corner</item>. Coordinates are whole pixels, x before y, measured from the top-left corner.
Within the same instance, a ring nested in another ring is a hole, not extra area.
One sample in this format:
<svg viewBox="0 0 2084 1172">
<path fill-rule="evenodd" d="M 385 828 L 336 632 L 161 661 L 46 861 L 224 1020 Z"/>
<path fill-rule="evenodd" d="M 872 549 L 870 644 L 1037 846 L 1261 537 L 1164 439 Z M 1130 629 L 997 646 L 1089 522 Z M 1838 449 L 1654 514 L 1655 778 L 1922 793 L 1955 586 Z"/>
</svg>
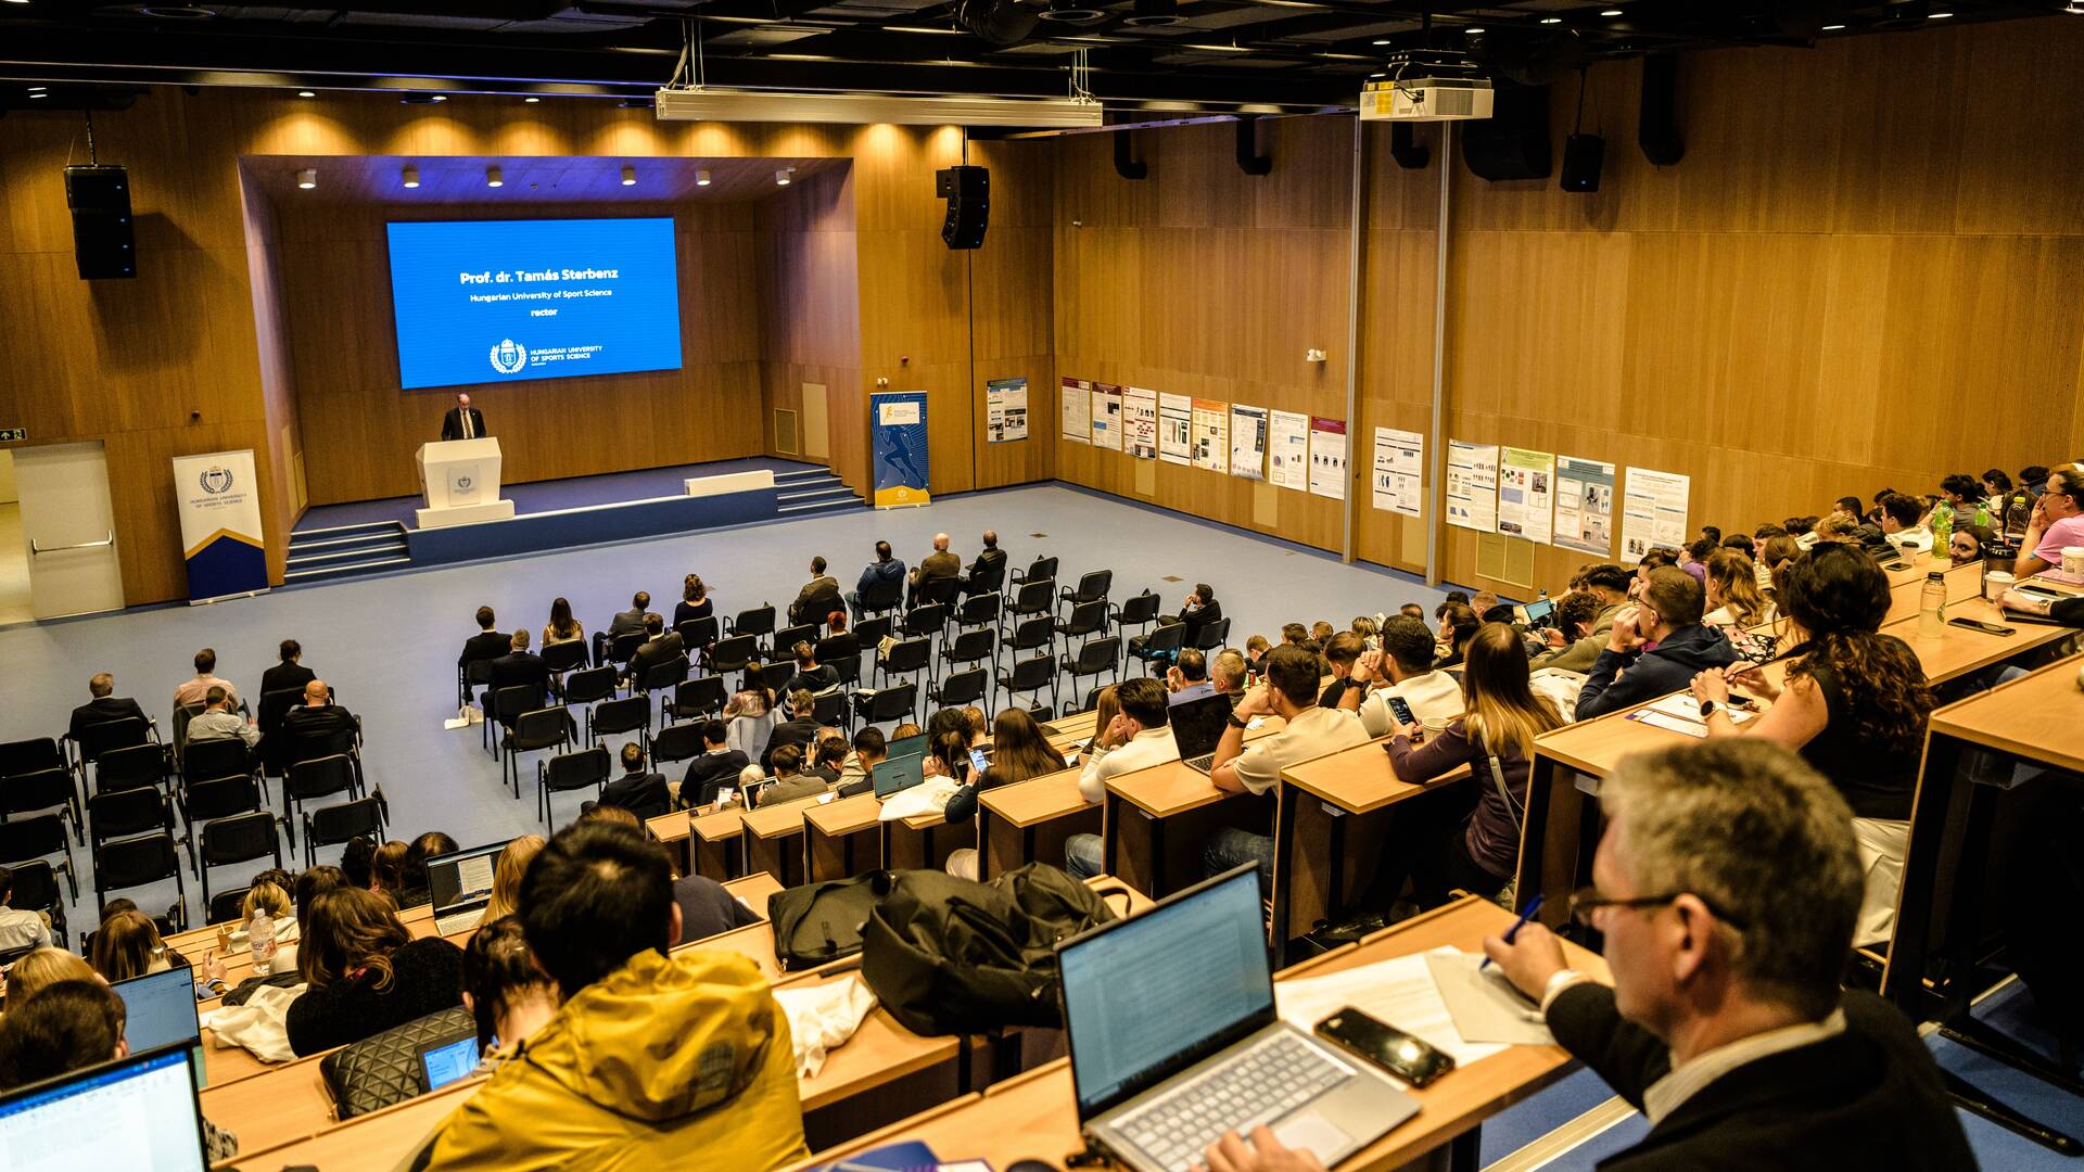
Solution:
<svg viewBox="0 0 2084 1172">
<path fill-rule="evenodd" d="M 0 1095 L 0 1168 L 202 1172 L 188 1051 L 146 1049 Z"/>
</svg>

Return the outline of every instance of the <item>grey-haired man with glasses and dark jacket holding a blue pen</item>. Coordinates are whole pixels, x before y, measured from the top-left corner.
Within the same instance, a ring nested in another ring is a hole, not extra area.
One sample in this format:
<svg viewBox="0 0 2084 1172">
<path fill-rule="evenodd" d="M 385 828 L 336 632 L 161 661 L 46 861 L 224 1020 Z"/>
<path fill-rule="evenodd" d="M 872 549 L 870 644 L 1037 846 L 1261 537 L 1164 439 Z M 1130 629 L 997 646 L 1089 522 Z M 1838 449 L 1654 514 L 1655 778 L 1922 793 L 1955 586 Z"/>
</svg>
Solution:
<svg viewBox="0 0 2084 1172">
<path fill-rule="evenodd" d="M 1648 1118 L 1601 1168 L 1976 1166 L 1911 1024 L 1838 984 L 1863 876 L 1830 782 L 1732 736 L 1630 757 L 1598 801 L 1596 886 L 1571 911 L 1603 932 L 1613 988 L 1571 970 L 1540 922 L 1484 951 Z M 1257 1143 L 1240 1168 L 1275 1166 L 1277 1149 Z"/>
</svg>

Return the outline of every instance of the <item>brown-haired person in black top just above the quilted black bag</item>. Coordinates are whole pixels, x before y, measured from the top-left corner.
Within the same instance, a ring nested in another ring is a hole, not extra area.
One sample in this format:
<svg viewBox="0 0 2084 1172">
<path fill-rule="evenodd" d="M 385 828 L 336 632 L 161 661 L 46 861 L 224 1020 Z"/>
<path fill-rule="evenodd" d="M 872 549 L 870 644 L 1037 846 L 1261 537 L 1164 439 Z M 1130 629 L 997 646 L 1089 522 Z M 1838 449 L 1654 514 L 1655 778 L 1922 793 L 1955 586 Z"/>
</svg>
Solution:
<svg viewBox="0 0 2084 1172">
<path fill-rule="evenodd" d="M 313 901 L 296 961 L 308 984 L 286 1020 L 298 1055 L 463 1003 L 463 949 L 440 936 L 415 941 L 388 899 L 361 888 Z"/>
</svg>

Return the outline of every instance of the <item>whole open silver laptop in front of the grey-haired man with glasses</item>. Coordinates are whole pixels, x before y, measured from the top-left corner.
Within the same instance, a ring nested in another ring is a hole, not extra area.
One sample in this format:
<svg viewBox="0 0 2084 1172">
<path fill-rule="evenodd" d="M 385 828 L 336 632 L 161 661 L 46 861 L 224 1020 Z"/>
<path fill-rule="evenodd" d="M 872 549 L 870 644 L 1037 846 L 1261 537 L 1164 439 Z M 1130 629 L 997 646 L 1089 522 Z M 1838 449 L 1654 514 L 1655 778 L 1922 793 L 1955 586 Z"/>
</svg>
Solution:
<svg viewBox="0 0 2084 1172">
<path fill-rule="evenodd" d="M 1332 1168 L 1419 1109 L 1273 1011 L 1252 865 L 1057 945 L 1057 972 L 1080 1128 L 1136 1172 L 1259 1124 Z"/>
</svg>

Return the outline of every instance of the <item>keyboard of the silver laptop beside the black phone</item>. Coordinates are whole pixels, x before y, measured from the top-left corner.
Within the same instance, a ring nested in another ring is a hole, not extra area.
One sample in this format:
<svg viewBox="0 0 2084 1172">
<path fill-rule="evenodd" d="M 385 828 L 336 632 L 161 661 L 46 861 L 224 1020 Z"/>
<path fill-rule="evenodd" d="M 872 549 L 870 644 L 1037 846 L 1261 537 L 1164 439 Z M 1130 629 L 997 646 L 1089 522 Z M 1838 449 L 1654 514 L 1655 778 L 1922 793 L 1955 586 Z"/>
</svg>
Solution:
<svg viewBox="0 0 2084 1172">
<path fill-rule="evenodd" d="M 1115 1128 L 1175 1172 L 1200 1162 L 1202 1149 L 1225 1130 L 1269 1124 L 1350 1076 L 1323 1051 L 1282 1030 L 1123 1114 Z"/>
</svg>

